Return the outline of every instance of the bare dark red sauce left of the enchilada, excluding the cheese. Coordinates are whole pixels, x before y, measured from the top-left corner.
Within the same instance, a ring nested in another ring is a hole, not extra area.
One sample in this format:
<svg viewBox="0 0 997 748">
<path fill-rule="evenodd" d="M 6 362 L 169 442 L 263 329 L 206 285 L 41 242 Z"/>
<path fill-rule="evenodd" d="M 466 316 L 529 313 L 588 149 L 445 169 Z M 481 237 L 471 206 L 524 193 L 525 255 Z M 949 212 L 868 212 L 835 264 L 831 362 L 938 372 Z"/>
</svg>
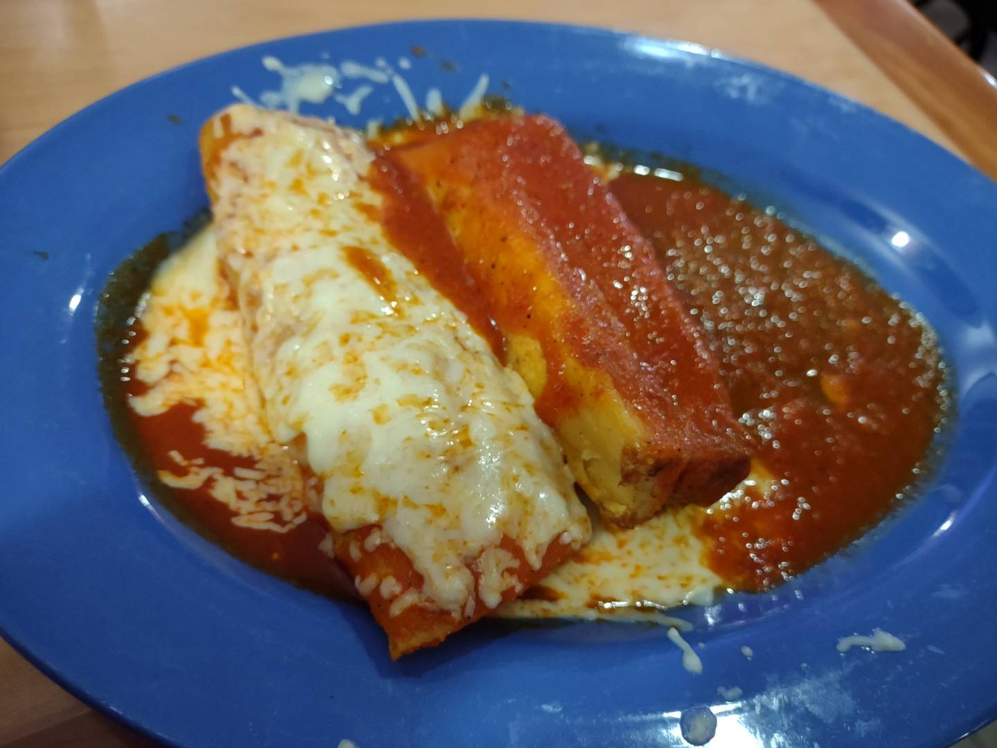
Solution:
<svg viewBox="0 0 997 748">
<path fill-rule="evenodd" d="M 128 345 L 138 345 L 144 331 L 135 323 L 136 335 Z M 132 367 L 122 368 L 122 394 L 129 398 L 142 394 L 146 386 L 132 376 Z M 176 450 L 186 459 L 202 458 L 206 465 L 230 472 L 235 468 L 255 468 L 249 458 L 238 458 L 228 452 L 212 450 L 204 445 L 204 429 L 192 420 L 196 408 L 176 405 L 159 416 L 140 416 L 128 409 L 132 426 L 142 445 L 142 452 L 158 470 L 180 474 L 169 457 Z M 252 530 L 232 524 L 235 514 L 209 493 L 209 483 L 199 489 L 167 488 L 168 496 L 222 546 L 241 559 L 270 573 L 291 579 L 303 586 L 329 594 L 356 596 L 352 581 L 335 561 L 319 550 L 328 532 L 321 517 L 309 517 L 286 533 Z"/>
</svg>

